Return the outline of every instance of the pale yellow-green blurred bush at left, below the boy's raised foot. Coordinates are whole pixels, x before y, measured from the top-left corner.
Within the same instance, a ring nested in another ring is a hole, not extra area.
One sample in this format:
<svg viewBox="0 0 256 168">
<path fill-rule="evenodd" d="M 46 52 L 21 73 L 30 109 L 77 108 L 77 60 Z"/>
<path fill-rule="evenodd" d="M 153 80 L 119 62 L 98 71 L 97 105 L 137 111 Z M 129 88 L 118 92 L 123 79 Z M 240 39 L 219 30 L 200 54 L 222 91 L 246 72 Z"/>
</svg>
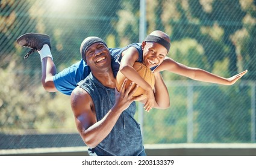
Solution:
<svg viewBox="0 0 256 168">
<path fill-rule="evenodd" d="M 25 85 L 31 77 L 14 74 L 13 69 L 16 67 L 16 61 L 12 60 L 7 68 L 0 68 L 0 83 L 3 86 L 0 89 L 1 132 L 26 133 L 37 130 L 49 133 L 54 129 L 75 131 L 69 97 L 60 93 L 46 94 L 43 86 L 38 84 L 31 84 L 27 88 Z"/>
</svg>

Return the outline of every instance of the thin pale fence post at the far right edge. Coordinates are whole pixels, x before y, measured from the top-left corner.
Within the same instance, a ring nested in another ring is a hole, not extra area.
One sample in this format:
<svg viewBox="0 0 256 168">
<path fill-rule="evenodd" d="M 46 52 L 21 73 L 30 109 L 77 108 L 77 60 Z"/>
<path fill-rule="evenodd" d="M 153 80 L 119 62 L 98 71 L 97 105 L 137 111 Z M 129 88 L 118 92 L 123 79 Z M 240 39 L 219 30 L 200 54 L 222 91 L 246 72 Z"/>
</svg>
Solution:
<svg viewBox="0 0 256 168">
<path fill-rule="evenodd" d="M 251 87 L 251 142 L 255 142 L 255 82 Z"/>
</svg>

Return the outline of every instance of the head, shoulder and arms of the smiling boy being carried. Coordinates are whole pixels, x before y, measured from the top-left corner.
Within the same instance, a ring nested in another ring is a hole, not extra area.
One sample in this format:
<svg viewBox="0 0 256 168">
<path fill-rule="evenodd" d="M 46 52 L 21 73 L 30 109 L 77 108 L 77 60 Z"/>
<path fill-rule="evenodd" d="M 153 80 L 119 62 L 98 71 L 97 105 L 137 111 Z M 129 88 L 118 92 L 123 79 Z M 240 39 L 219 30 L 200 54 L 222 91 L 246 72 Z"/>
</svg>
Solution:
<svg viewBox="0 0 256 168">
<path fill-rule="evenodd" d="M 151 68 L 155 72 L 167 70 L 193 80 L 222 85 L 233 85 L 247 73 L 247 70 L 245 70 L 233 77 L 224 78 L 199 68 L 187 67 L 167 57 L 166 55 L 169 49 L 169 36 L 162 31 L 153 31 L 141 45 L 130 44 L 130 46 L 123 49 L 122 56 L 117 58 L 120 62 L 120 71 L 122 74 L 145 89 L 147 98 L 144 107 L 147 110 L 152 109 L 152 106 L 154 106 L 154 93 L 151 86 L 133 68 L 134 62 L 142 62 L 146 67 Z"/>
</svg>

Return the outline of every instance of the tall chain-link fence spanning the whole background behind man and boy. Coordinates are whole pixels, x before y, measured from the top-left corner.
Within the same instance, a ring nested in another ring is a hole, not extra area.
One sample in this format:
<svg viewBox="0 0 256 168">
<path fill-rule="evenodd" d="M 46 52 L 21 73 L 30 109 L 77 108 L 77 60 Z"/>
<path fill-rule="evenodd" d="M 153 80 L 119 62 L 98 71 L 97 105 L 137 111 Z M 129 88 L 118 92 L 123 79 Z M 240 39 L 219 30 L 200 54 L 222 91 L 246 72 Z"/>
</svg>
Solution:
<svg viewBox="0 0 256 168">
<path fill-rule="evenodd" d="M 108 47 L 141 42 L 159 29 L 170 35 L 168 56 L 189 67 L 231 77 L 249 72 L 232 86 L 195 82 L 163 72 L 170 108 L 139 112 L 145 143 L 255 142 L 256 5 L 248 0 L 5 0 L 0 1 L 1 134 L 77 133 L 69 96 L 46 92 L 40 56 L 16 39 L 27 32 L 48 34 L 61 71 L 80 61 L 88 36 Z M 143 4 L 143 3 L 142 3 Z"/>
</svg>

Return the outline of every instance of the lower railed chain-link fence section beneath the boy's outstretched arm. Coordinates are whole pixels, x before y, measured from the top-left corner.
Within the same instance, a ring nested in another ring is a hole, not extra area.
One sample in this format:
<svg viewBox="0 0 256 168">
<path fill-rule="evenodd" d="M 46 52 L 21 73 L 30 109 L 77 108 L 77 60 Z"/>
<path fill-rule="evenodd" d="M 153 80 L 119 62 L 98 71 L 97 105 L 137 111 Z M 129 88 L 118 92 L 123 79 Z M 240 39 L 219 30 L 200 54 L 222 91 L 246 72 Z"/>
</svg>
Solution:
<svg viewBox="0 0 256 168">
<path fill-rule="evenodd" d="M 255 82 L 166 82 L 170 108 L 144 113 L 147 143 L 255 142 Z"/>
</svg>

